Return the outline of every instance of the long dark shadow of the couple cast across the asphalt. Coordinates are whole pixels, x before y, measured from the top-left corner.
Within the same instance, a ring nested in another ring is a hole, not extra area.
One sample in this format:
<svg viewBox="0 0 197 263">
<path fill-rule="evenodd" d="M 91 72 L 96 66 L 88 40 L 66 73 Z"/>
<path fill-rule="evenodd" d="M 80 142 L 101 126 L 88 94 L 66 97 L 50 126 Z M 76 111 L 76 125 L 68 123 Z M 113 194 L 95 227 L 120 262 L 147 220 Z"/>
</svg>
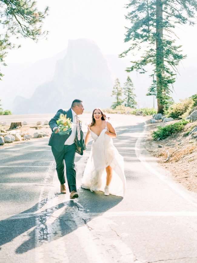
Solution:
<svg viewBox="0 0 197 263">
<path fill-rule="evenodd" d="M 46 198 L 30 209 L 1 220 L 0 248 L 22 234 L 24 236 L 28 235 L 28 240 L 19 245 L 15 251 L 17 254 L 22 254 L 42 245 L 43 242 L 52 242 L 75 231 L 78 227 L 85 226 L 93 218 L 102 215 L 102 213 L 122 201 L 122 197 L 112 195 L 106 197 L 103 192 L 92 193 L 85 189 L 80 189 L 79 194 L 80 197 L 78 199 L 60 202 L 57 205 L 44 209 L 42 212 L 36 213 L 38 209 L 44 207 L 48 202 Z M 58 194 L 55 194 L 53 197 L 53 199 L 57 199 L 56 202 L 58 202 L 58 196 Z M 59 209 L 63 209 L 60 215 L 53 215 Z M 33 215 L 33 213 L 35 214 Z M 55 218 L 52 224 L 47 223 L 50 217 Z M 50 230 L 48 229 L 49 227 Z M 34 229 L 31 231 L 31 228 Z M 30 232 L 25 234 L 27 231 Z"/>
</svg>

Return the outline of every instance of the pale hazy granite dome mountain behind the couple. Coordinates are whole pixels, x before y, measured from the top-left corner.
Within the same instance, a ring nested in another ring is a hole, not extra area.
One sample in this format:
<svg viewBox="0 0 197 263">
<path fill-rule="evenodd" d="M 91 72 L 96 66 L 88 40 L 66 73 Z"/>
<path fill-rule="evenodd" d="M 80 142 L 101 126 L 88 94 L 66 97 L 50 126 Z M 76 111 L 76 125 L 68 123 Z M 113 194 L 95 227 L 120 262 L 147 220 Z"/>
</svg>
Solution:
<svg viewBox="0 0 197 263">
<path fill-rule="evenodd" d="M 76 98 L 83 101 L 85 110 L 97 105 L 107 108 L 112 104 L 113 84 L 99 47 L 88 39 L 69 40 L 66 55 L 56 63 L 52 81 L 38 86 L 30 99 L 16 97 L 13 112 L 55 113 L 69 108 Z"/>
</svg>

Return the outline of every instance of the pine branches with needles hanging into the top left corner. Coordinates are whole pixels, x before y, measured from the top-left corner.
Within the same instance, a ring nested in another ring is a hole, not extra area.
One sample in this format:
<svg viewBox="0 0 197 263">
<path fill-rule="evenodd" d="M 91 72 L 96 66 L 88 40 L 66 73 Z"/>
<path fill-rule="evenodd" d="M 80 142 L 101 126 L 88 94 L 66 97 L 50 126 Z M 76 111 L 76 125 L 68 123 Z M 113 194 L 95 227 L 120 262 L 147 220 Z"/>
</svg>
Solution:
<svg viewBox="0 0 197 263">
<path fill-rule="evenodd" d="M 38 11 L 36 2 L 32 0 L 0 0 L 0 63 L 6 66 L 7 50 L 14 48 L 10 37 L 31 38 L 34 41 L 47 35 L 42 31 L 43 20 L 48 14 L 48 7 L 43 12 Z M 20 45 L 18 46 L 20 47 Z M 3 74 L 0 72 L 0 77 Z M 0 78 L 1 79 L 1 78 Z"/>
</svg>

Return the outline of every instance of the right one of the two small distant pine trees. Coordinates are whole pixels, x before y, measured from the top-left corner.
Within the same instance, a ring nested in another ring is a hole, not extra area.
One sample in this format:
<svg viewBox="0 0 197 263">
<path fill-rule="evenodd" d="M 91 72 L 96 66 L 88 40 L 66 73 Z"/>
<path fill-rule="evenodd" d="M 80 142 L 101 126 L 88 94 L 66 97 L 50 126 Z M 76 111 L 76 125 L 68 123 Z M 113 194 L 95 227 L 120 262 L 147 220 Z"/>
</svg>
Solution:
<svg viewBox="0 0 197 263">
<path fill-rule="evenodd" d="M 136 95 L 133 93 L 134 87 L 131 78 L 128 76 L 126 82 L 124 83 L 124 95 L 125 95 L 125 106 L 130 108 L 135 108 L 137 102 L 135 101 Z"/>
</svg>

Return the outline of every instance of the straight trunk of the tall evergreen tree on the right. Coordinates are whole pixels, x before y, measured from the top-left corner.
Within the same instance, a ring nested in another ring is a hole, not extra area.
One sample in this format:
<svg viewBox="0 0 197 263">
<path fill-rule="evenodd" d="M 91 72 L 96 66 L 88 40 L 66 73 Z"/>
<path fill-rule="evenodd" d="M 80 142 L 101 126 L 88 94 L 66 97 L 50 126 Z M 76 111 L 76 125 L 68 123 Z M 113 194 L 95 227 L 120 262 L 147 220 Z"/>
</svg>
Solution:
<svg viewBox="0 0 197 263">
<path fill-rule="evenodd" d="M 157 113 L 163 113 L 162 97 L 165 93 L 163 90 L 162 73 L 164 72 L 163 56 L 163 4 L 162 1 L 156 0 L 156 74 L 157 74 Z"/>
</svg>

